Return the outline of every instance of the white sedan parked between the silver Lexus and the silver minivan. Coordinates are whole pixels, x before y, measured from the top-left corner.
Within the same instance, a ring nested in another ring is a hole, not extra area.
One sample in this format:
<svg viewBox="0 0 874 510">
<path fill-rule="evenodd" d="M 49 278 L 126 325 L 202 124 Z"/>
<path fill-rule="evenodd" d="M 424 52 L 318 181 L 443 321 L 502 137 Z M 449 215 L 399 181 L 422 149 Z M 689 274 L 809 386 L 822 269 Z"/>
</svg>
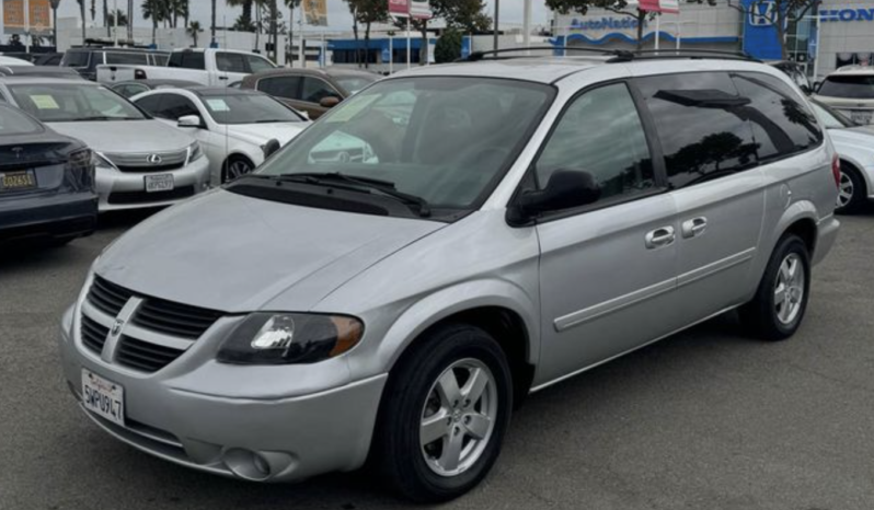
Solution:
<svg viewBox="0 0 874 510">
<path fill-rule="evenodd" d="M 197 138 L 217 186 L 252 172 L 273 140 L 285 146 L 311 123 L 261 92 L 196 86 L 160 89 L 130 98 L 159 120 Z"/>
</svg>

